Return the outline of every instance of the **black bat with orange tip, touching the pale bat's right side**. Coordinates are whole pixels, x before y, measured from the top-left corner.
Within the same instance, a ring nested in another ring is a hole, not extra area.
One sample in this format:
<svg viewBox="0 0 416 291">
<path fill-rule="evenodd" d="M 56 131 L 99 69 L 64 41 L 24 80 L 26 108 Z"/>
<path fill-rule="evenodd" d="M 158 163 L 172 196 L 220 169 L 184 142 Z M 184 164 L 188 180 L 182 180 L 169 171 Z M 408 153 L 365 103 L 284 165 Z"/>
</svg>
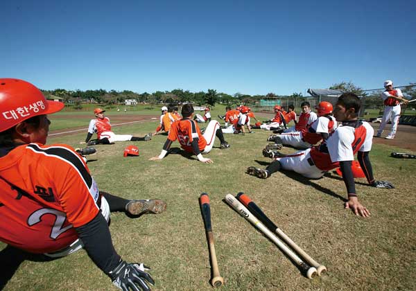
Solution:
<svg viewBox="0 0 416 291">
<path fill-rule="evenodd" d="M 274 224 L 268 217 L 266 214 L 263 213 L 263 211 L 261 211 L 260 207 L 257 206 L 257 204 L 255 204 L 250 197 L 248 197 L 248 195 L 245 195 L 243 192 L 240 192 L 239 194 L 237 194 L 237 198 L 254 214 L 256 215 L 257 218 L 259 218 L 259 220 L 261 222 L 263 222 L 263 224 L 266 225 L 266 227 L 268 229 L 270 229 L 270 231 L 273 231 L 275 233 L 277 233 L 277 235 L 292 249 L 295 250 L 295 252 L 297 252 L 297 254 L 300 254 L 300 256 L 302 256 L 308 263 L 309 265 L 313 266 L 316 268 L 316 271 L 318 273 L 318 276 L 320 276 L 321 274 L 323 274 L 324 272 L 327 271 L 327 267 L 325 267 L 324 265 L 320 265 L 320 263 L 316 262 L 313 258 L 311 258 L 311 256 L 309 256 L 309 254 L 306 254 L 306 252 L 300 248 L 298 245 L 296 245 L 295 242 L 293 242 L 293 240 L 291 240 L 291 238 L 289 238 L 286 233 L 284 233 L 281 229 L 279 229 L 279 227 L 277 227 L 276 224 Z"/>
</svg>

